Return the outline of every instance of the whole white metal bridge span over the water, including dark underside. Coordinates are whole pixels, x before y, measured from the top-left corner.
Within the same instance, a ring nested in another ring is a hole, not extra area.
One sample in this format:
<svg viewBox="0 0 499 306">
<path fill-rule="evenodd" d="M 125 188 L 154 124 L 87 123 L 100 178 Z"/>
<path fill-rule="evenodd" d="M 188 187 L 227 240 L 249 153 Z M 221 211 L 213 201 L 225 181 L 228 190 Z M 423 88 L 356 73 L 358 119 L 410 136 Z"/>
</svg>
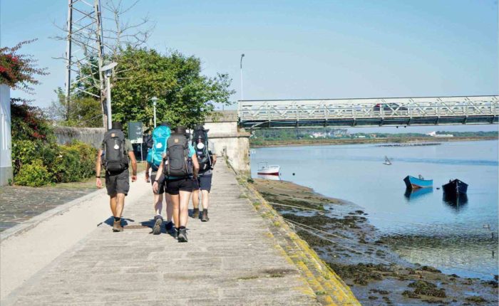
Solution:
<svg viewBox="0 0 499 306">
<path fill-rule="evenodd" d="M 499 120 L 499 96 L 242 100 L 238 115 L 248 129 L 490 125 Z"/>
</svg>

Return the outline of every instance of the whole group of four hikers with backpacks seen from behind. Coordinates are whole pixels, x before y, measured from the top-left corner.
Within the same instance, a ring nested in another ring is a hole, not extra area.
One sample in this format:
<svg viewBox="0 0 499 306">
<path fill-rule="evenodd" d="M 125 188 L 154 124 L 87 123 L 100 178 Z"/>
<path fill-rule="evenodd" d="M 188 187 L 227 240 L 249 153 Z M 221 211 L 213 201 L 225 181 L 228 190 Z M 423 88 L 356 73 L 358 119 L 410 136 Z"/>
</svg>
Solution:
<svg viewBox="0 0 499 306">
<path fill-rule="evenodd" d="M 192 196 L 192 218 L 207 222 L 212 185 L 212 169 L 217 162 L 209 147 L 207 132 L 202 125 L 196 125 L 192 134 L 185 127 L 172 129 L 168 122 L 161 123 L 148 137 L 147 166 L 145 181 L 153 185 L 154 225 L 153 234 L 161 233 L 163 225 L 163 198 L 165 199 L 165 228 L 179 242 L 187 242 L 187 219 L 189 202 Z M 210 143 L 211 144 L 211 143 Z M 132 167 L 131 180 L 137 180 L 137 160 L 133 146 L 125 138 L 120 122 L 113 122 L 104 134 L 96 162 L 96 186 L 102 188 L 101 169 L 106 169 L 106 189 L 110 196 L 110 209 L 113 213 L 113 231 L 123 231 L 121 216 L 125 196 L 130 190 L 129 167 Z M 150 174 L 149 174 L 150 172 Z M 200 196 L 202 211 L 200 211 Z"/>
</svg>

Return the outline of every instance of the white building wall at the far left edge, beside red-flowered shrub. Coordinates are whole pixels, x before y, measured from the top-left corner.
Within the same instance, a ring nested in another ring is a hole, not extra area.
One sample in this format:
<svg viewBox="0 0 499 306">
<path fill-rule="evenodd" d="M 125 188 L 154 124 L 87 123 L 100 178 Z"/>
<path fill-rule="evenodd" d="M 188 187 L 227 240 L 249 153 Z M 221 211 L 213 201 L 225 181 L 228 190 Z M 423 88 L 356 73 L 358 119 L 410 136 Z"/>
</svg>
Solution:
<svg viewBox="0 0 499 306">
<path fill-rule="evenodd" d="M 11 93 L 7 85 L 0 84 L 0 186 L 12 179 L 11 161 Z"/>
</svg>

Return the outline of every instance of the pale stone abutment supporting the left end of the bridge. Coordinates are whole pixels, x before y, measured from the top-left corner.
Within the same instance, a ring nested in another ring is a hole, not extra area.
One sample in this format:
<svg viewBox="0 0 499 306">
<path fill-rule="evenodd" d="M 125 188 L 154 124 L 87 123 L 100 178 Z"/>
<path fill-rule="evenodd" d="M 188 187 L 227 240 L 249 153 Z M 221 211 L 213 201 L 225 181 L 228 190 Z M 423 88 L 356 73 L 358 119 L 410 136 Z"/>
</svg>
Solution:
<svg viewBox="0 0 499 306">
<path fill-rule="evenodd" d="M 237 127 L 237 111 L 215 112 L 205 122 L 215 154 L 223 156 L 238 173 L 249 174 L 249 133 Z"/>
</svg>

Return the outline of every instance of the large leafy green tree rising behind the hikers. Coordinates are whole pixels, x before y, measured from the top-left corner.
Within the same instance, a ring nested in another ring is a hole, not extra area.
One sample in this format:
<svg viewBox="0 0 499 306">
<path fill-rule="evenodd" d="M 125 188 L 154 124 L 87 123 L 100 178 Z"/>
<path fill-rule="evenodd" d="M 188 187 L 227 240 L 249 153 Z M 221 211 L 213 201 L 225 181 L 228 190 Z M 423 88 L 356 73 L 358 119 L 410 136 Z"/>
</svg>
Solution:
<svg viewBox="0 0 499 306">
<path fill-rule="evenodd" d="M 113 120 L 153 125 L 153 102 L 158 97 L 158 122 L 193 127 L 215 110 L 215 103 L 230 105 L 231 80 L 227 74 L 209 78 L 201 60 L 178 51 L 168 55 L 128 46 L 115 58 L 112 78 Z"/>
</svg>

